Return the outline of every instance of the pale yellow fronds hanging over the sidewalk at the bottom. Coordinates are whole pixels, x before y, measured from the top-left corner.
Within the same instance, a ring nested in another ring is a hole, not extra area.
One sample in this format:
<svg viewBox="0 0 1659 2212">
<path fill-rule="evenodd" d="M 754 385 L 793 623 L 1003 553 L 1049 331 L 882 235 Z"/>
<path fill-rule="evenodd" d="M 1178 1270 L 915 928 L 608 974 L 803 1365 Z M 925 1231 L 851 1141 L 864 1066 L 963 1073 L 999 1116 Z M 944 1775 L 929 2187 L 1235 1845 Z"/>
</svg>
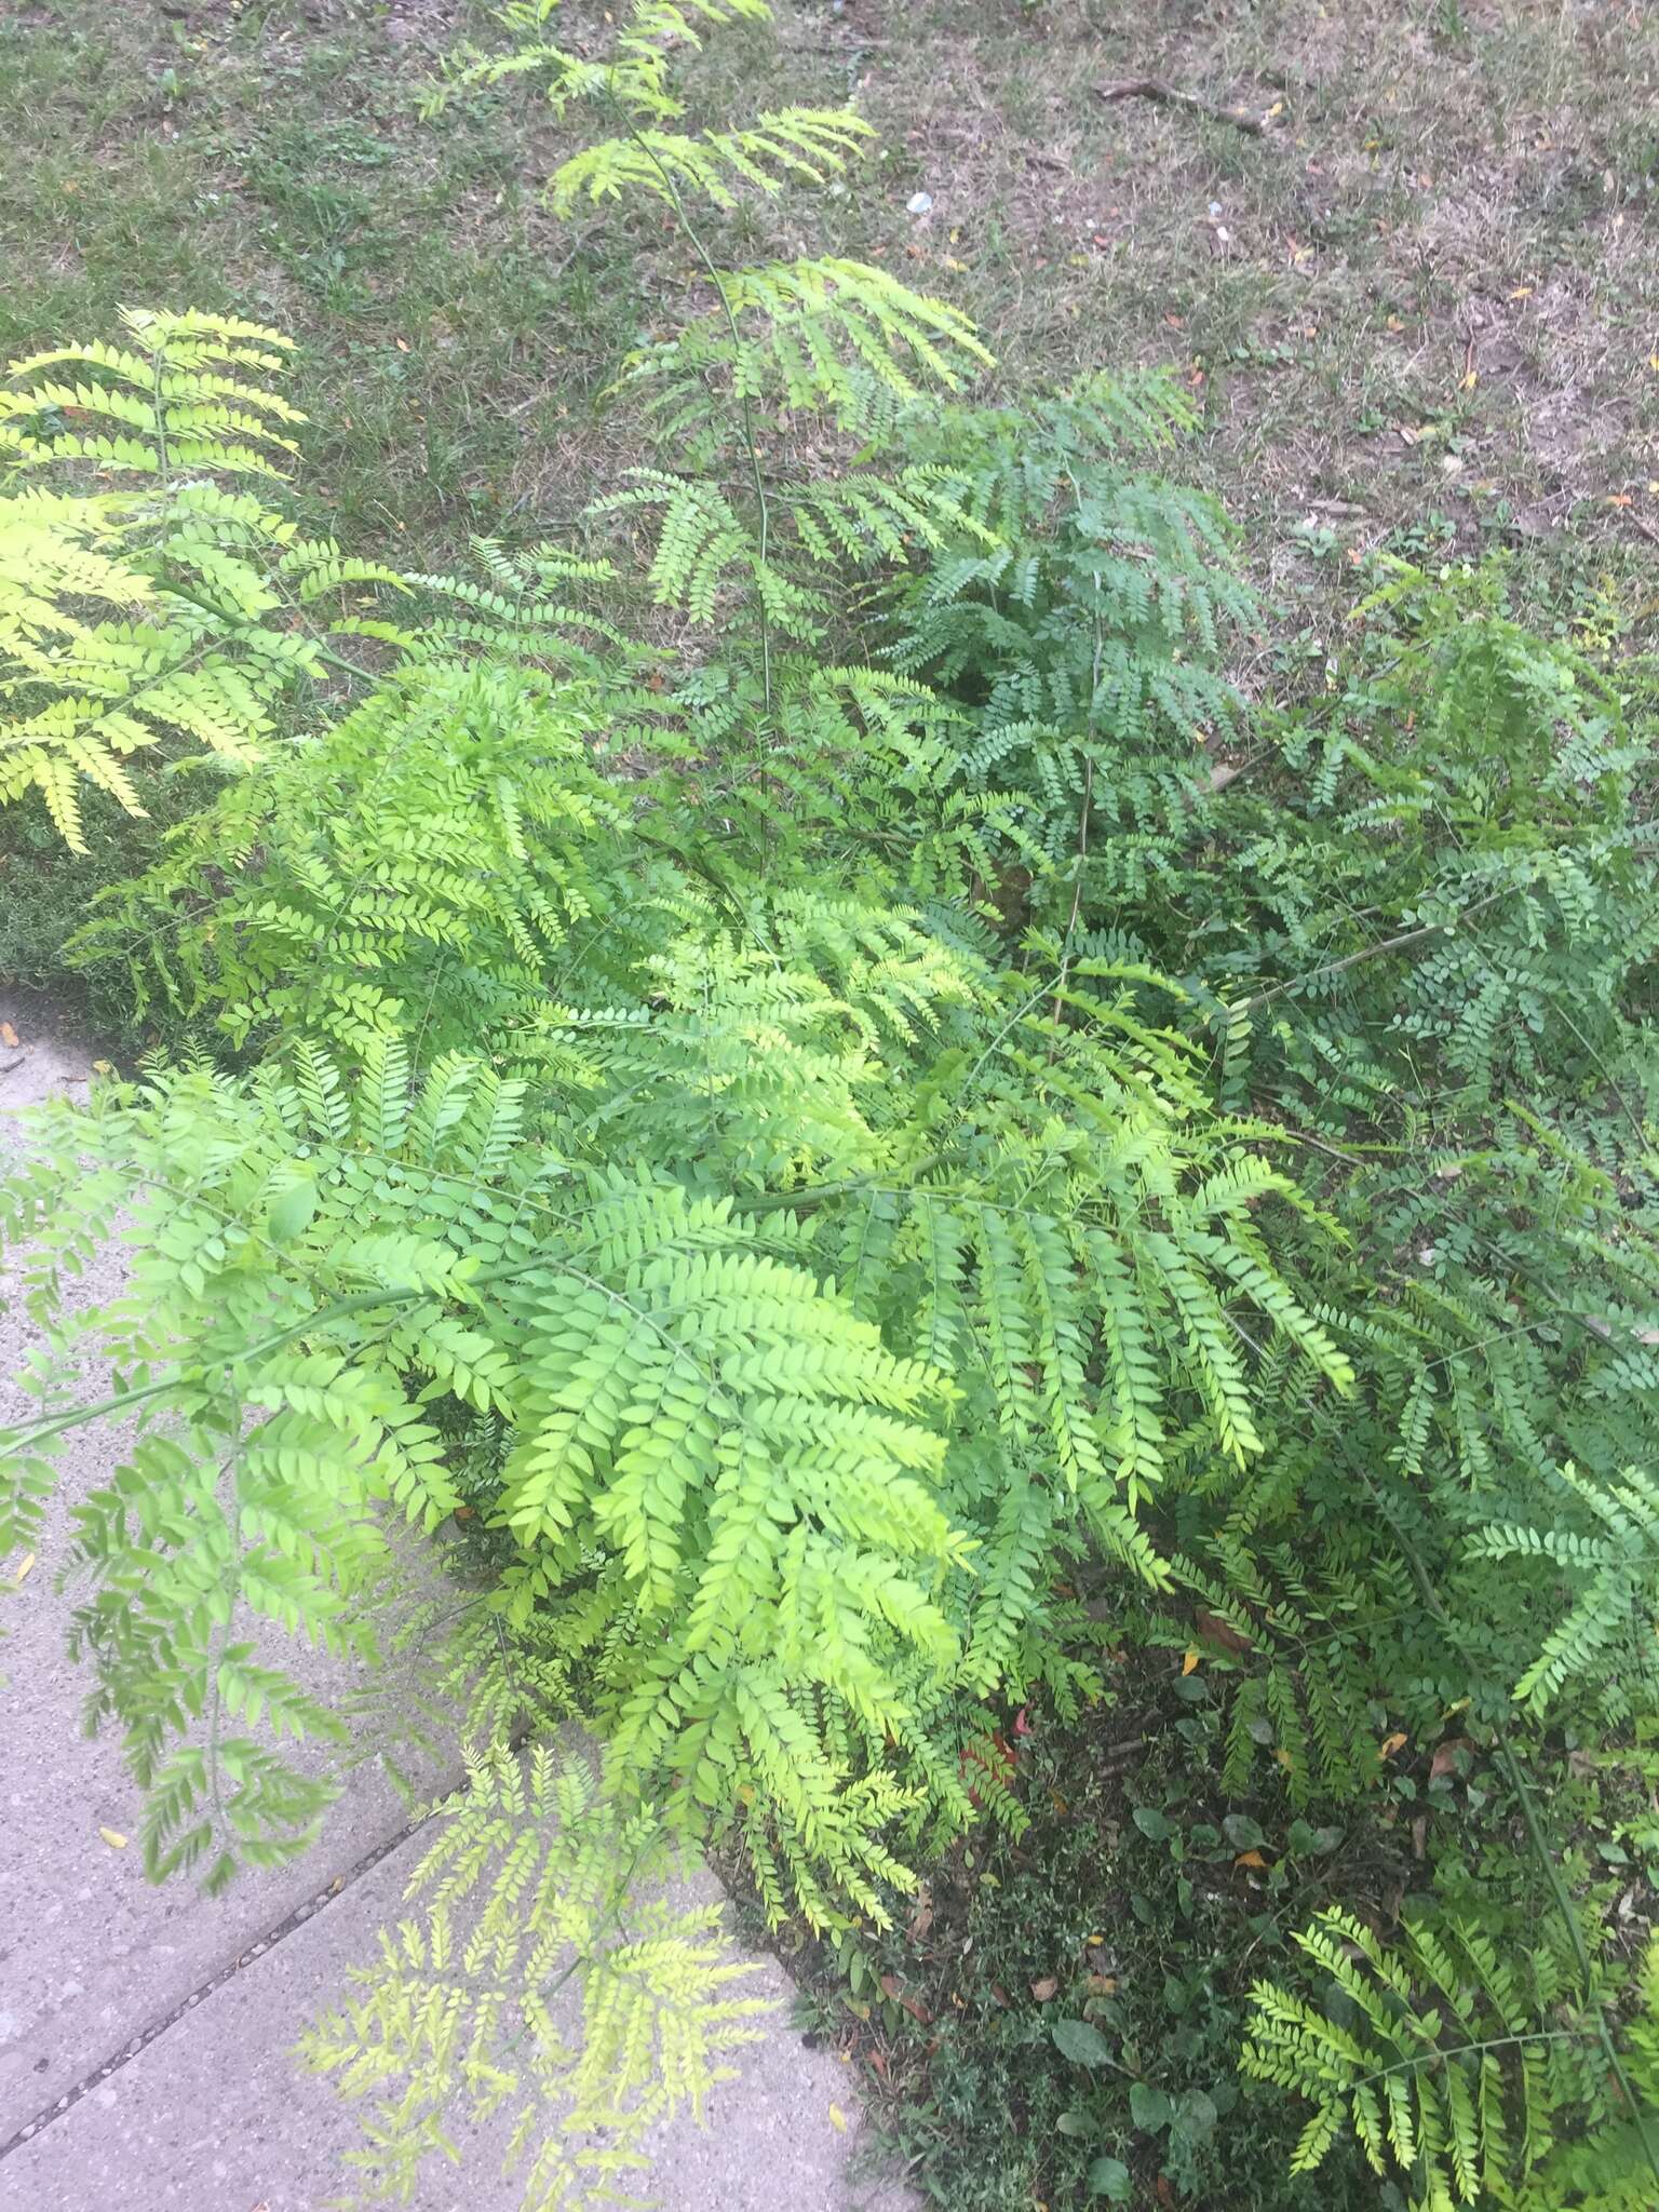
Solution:
<svg viewBox="0 0 1659 2212">
<path fill-rule="evenodd" d="M 361 2201 L 414 2201 L 458 2117 L 507 2126 L 524 2212 L 619 2197 L 648 2132 L 703 2119 L 768 2011 L 728 1958 L 719 1905 L 659 1896 L 650 1814 L 617 1820 L 580 1754 L 471 1754 L 405 1889 L 425 1900 L 301 2042 L 369 2106 Z M 626 1922 L 626 1924 L 624 1924 Z"/>
</svg>

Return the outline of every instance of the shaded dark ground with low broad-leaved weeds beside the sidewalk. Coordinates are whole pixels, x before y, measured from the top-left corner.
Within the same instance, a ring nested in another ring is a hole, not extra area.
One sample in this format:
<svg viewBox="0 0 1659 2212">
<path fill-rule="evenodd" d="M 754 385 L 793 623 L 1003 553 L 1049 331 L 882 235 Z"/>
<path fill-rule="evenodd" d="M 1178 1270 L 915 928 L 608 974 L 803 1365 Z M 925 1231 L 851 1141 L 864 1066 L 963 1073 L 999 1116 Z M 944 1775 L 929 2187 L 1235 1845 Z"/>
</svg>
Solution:
<svg viewBox="0 0 1659 2212">
<path fill-rule="evenodd" d="M 1018 1843 L 958 1847 L 891 1938 L 805 1949 L 805 2017 L 852 2046 L 887 2143 L 951 2212 L 1371 2203 L 1356 2152 L 1287 2177 L 1301 2117 L 1237 2057 L 1250 1984 L 1296 1927 L 1334 1898 L 1398 1909 L 1409 1832 L 1391 1805 L 1219 1801 L 1206 1686 L 1168 1659 L 1128 1674 L 1077 1725 L 1020 1739 Z"/>
</svg>

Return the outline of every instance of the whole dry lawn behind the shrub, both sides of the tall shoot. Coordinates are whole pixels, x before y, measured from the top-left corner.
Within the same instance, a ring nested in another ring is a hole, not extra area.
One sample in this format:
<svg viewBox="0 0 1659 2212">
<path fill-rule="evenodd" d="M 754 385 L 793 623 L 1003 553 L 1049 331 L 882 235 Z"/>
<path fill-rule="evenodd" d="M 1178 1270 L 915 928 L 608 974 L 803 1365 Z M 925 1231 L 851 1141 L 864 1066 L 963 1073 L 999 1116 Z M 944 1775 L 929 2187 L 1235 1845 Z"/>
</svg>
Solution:
<svg viewBox="0 0 1659 2212">
<path fill-rule="evenodd" d="M 562 35 L 599 13 L 571 0 Z M 316 520 L 434 566 L 564 526 L 637 453 L 602 405 L 637 303 L 695 270 L 648 210 L 544 215 L 562 142 L 522 86 L 422 119 L 460 38 L 489 38 L 482 0 L 13 15 L 0 343 L 97 334 L 126 299 L 263 316 L 307 343 Z M 1144 73 L 1267 131 L 1097 97 Z M 1208 425 L 1183 467 L 1265 582 L 1316 584 L 1310 515 L 1363 551 L 1438 507 L 1455 551 L 1540 575 L 1593 549 L 1650 622 L 1657 80 L 1652 24 L 1610 0 L 783 0 L 690 95 L 692 119 L 856 97 L 883 150 L 821 197 L 818 243 L 967 307 L 1011 380 L 1172 365 Z M 714 243 L 796 246 L 765 206 Z"/>
</svg>

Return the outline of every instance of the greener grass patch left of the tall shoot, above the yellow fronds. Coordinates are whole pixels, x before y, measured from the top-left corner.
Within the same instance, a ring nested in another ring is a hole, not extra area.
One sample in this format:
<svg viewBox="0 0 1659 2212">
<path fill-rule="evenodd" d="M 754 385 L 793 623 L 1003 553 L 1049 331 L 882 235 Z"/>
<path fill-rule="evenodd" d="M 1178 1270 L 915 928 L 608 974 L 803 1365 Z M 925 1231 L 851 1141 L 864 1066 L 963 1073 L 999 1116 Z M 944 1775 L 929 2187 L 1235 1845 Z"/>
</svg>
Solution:
<svg viewBox="0 0 1659 2212">
<path fill-rule="evenodd" d="M 276 323 L 312 524 L 411 566 L 542 535 L 595 480 L 571 451 L 555 487 L 571 440 L 542 431 L 593 427 L 637 307 L 538 210 L 529 108 L 420 119 L 484 13 L 64 0 L 0 27 L 0 345 L 100 336 L 124 301 Z"/>
</svg>

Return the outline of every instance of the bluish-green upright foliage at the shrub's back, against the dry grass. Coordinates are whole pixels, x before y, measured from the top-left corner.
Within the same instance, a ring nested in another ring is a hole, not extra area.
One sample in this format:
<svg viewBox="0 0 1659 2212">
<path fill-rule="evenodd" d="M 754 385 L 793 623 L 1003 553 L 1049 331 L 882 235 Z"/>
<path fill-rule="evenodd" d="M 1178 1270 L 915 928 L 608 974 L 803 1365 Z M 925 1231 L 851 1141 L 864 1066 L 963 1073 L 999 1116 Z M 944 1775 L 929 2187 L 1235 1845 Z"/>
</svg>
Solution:
<svg viewBox="0 0 1659 2212">
<path fill-rule="evenodd" d="M 1239 721 L 1219 668 L 1252 602 L 1225 520 L 1133 473 L 1183 427 L 1175 385 L 1097 376 L 1031 409 L 896 429 L 978 535 L 958 531 L 894 595 L 891 657 L 962 703 L 953 776 L 1011 803 L 1006 860 L 1073 922 L 1177 865 L 1210 787 L 1203 748 Z"/>
</svg>

